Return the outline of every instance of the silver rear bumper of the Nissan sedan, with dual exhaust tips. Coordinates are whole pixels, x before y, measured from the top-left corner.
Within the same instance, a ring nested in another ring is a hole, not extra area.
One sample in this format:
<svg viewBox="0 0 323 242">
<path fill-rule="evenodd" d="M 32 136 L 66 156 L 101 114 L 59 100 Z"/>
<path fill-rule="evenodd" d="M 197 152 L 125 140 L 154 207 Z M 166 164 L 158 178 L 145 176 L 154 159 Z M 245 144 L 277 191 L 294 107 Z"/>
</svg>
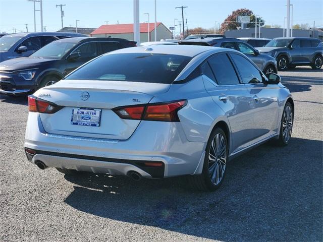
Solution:
<svg viewBox="0 0 323 242">
<path fill-rule="evenodd" d="M 147 178 L 200 173 L 204 145 L 187 141 L 181 124 L 171 122 L 142 121 L 128 140 L 53 135 L 44 131 L 38 113 L 29 113 L 25 137 L 25 147 L 36 150 L 32 163 L 114 175 L 136 171 Z"/>
</svg>

